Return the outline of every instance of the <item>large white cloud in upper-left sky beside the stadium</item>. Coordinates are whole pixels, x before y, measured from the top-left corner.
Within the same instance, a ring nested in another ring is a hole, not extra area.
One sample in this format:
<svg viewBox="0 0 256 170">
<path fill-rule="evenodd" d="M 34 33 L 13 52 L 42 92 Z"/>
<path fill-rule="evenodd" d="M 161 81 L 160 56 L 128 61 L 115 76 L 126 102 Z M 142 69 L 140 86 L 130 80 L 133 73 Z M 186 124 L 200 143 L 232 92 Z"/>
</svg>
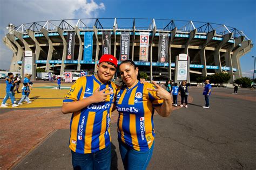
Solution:
<svg viewBox="0 0 256 170">
<path fill-rule="evenodd" d="M 8 30 L 8 23 L 39 22 L 55 19 L 96 18 L 105 10 L 103 3 L 86 0 L 4 0 L 0 1 L 0 39 L 2 42 Z M 72 23 L 74 24 L 74 23 Z M 5 32 L 5 33 L 4 33 Z M 12 51 L 0 44 L 0 69 L 9 69 Z"/>
</svg>

